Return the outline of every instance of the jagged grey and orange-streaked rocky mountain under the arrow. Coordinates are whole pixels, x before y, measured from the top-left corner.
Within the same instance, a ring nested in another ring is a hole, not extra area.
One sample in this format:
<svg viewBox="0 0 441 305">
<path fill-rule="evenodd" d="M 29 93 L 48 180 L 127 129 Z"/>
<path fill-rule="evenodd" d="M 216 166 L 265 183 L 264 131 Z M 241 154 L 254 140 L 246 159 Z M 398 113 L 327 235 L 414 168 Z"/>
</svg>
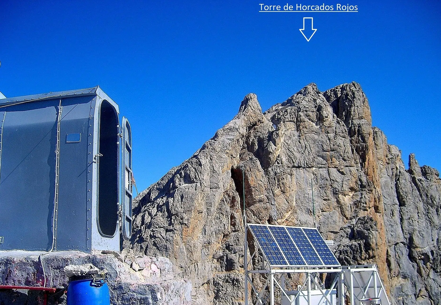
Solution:
<svg viewBox="0 0 441 305">
<path fill-rule="evenodd" d="M 377 264 L 395 304 L 441 304 L 439 172 L 413 155 L 405 169 L 359 84 L 310 84 L 264 113 L 248 94 L 134 202 L 131 252 L 168 257 L 194 304 L 242 304 L 243 182 L 249 223 L 316 222 L 342 264 Z"/>
</svg>

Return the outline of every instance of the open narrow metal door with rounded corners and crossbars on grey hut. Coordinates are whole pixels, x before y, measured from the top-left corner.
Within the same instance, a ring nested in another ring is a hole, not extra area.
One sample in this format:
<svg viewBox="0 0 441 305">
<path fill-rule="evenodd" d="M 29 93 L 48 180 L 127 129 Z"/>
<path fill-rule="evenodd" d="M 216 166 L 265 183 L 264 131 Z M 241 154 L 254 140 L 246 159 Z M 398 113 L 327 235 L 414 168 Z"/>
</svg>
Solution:
<svg viewBox="0 0 441 305">
<path fill-rule="evenodd" d="M 132 134 L 129 121 L 123 117 L 122 122 L 122 167 L 121 167 L 121 189 L 122 189 L 122 227 L 123 238 L 129 240 L 132 234 Z"/>
</svg>

